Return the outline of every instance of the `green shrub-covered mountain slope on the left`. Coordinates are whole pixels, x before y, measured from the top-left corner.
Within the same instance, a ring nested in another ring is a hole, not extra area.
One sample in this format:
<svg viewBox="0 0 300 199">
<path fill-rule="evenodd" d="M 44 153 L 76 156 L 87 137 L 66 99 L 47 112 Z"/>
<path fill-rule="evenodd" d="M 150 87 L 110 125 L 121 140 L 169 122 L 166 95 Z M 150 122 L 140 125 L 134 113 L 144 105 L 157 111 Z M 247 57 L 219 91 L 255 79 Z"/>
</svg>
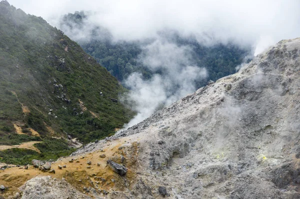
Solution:
<svg viewBox="0 0 300 199">
<path fill-rule="evenodd" d="M 0 60 L 0 144 L 47 138 L 64 150 L 57 137 L 104 138 L 133 114 L 117 102 L 126 90 L 104 67 L 62 31 L 7 1 L 0 2 Z"/>
</svg>

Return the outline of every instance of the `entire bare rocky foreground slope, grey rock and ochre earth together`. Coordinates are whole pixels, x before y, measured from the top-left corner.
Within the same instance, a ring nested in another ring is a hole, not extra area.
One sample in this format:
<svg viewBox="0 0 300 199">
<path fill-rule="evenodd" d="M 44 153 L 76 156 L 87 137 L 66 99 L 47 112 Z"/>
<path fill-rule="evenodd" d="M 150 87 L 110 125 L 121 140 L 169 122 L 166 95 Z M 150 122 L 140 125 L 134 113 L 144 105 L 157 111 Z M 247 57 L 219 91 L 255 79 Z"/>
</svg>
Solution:
<svg viewBox="0 0 300 199">
<path fill-rule="evenodd" d="M 1 195 L 300 198 L 299 50 L 300 38 L 279 41 L 237 73 L 52 162 L 55 173 L 7 168 Z"/>
</svg>

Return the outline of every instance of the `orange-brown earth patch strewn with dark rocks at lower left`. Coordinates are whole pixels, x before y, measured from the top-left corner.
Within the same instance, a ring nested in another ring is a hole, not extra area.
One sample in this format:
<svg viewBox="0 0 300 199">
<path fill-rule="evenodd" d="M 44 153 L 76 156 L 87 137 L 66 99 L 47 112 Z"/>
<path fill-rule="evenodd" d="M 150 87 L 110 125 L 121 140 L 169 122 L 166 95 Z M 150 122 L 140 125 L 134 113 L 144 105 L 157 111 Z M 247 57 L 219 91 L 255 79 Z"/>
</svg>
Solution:
<svg viewBox="0 0 300 199">
<path fill-rule="evenodd" d="M 133 142 L 130 146 L 127 146 L 127 151 L 125 151 L 125 148 L 119 149 L 119 146 L 127 141 L 128 140 L 125 138 L 113 140 L 108 143 L 105 148 L 87 153 L 84 156 L 76 155 L 72 157 L 59 158 L 51 165 L 51 168 L 55 169 L 55 174 L 42 172 L 33 166 L 29 166 L 28 169 L 24 169 L 23 167 L 11 167 L 0 171 L 0 184 L 9 187 L 3 196 L 5 198 L 13 196 L 16 192 L 20 192 L 20 186 L 22 186 L 27 180 L 36 176 L 44 175 L 51 175 L 53 178 L 64 177 L 67 182 L 76 187 L 78 190 L 82 190 L 84 186 L 93 187 L 94 184 L 97 184 L 100 189 L 108 190 L 110 188 L 114 188 L 121 191 L 124 189 L 125 183 L 131 184 L 135 181 L 134 169 L 136 159 L 132 157 L 137 155 L 138 144 Z M 128 155 L 128 151 L 130 151 L 130 156 Z M 100 158 L 100 154 L 105 154 L 105 157 Z M 125 161 L 128 171 L 125 177 L 113 172 L 109 166 L 106 165 L 107 159 L 119 162 L 120 155 L 123 155 L 126 158 Z M 70 159 L 73 159 L 73 162 L 69 162 Z M 91 161 L 90 165 L 87 164 L 87 160 Z M 97 163 L 100 165 L 98 166 Z M 66 168 L 59 169 L 58 165 L 66 165 Z M 87 166 L 90 166 L 90 168 L 87 168 Z M 101 178 L 104 180 L 101 180 Z M 115 181 L 112 182 L 111 179 L 114 179 Z"/>
</svg>

